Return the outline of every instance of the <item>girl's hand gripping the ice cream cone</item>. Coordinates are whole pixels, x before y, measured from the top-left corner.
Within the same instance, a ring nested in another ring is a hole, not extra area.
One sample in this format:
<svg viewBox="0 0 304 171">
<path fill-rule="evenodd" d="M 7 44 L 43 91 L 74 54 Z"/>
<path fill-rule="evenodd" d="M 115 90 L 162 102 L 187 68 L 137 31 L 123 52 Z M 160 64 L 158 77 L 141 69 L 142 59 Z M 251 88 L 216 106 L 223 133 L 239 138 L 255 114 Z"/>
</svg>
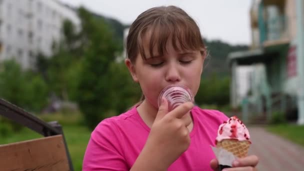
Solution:
<svg viewBox="0 0 304 171">
<path fill-rule="evenodd" d="M 258 163 L 258 157 L 256 155 L 249 155 L 243 158 L 238 158 L 233 161 L 231 168 L 225 168 L 223 171 L 251 171 L 257 170 L 255 167 Z M 216 159 L 210 161 L 210 166 L 213 170 L 218 170 L 218 162 Z"/>
</svg>

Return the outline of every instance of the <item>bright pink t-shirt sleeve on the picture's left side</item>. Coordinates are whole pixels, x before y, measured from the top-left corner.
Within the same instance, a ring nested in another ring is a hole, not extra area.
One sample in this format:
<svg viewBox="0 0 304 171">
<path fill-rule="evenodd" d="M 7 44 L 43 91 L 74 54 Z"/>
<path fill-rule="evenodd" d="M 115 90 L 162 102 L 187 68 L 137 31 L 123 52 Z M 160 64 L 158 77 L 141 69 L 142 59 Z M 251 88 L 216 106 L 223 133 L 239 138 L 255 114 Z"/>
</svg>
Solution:
<svg viewBox="0 0 304 171">
<path fill-rule="evenodd" d="M 101 121 L 91 133 L 82 170 L 128 170 L 120 132 L 111 119 Z"/>
</svg>

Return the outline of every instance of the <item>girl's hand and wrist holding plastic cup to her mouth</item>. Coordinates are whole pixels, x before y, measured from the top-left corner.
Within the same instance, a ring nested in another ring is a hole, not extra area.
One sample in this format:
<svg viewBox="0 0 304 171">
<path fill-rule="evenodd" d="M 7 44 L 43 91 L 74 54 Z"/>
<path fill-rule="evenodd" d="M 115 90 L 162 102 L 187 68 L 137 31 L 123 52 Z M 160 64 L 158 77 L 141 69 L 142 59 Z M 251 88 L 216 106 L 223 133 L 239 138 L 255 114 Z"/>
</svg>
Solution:
<svg viewBox="0 0 304 171">
<path fill-rule="evenodd" d="M 162 98 L 147 141 L 136 161 L 145 158 L 148 160 L 145 164 L 151 170 L 166 170 L 190 145 L 187 126 L 191 117 L 184 116 L 192 107 L 193 103 L 185 102 L 168 112 L 168 102 Z"/>
</svg>

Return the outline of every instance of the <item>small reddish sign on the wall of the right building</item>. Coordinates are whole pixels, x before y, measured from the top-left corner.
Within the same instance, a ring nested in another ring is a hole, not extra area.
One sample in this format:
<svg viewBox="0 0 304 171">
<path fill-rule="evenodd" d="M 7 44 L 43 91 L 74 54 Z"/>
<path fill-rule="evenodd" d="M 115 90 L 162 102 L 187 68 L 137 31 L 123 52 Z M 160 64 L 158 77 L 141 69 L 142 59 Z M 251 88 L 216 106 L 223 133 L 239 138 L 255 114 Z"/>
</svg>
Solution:
<svg viewBox="0 0 304 171">
<path fill-rule="evenodd" d="M 287 76 L 296 76 L 296 46 L 290 45 L 287 54 Z"/>
</svg>

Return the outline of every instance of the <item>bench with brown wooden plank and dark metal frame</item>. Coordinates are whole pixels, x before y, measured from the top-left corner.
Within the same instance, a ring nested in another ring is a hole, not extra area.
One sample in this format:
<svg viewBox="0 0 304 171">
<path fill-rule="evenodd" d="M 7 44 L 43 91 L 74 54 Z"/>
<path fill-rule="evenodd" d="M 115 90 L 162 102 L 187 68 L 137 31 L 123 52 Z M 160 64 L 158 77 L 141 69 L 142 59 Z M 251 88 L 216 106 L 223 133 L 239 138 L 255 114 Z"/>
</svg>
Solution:
<svg viewBox="0 0 304 171">
<path fill-rule="evenodd" d="M 57 121 L 44 122 L 1 98 L 0 115 L 44 136 L 0 144 L 1 171 L 73 170 L 64 134 Z"/>
</svg>

